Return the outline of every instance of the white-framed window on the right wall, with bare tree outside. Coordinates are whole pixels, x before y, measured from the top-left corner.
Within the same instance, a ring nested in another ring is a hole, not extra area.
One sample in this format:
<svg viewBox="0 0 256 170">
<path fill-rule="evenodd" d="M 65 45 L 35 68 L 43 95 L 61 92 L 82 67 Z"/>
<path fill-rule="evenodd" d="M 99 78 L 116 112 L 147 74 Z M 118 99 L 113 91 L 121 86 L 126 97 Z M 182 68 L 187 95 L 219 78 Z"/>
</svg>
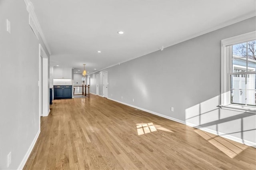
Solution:
<svg viewBox="0 0 256 170">
<path fill-rule="evenodd" d="M 256 31 L 222 40 L 221 107 L 256 113 Z"/>
</svg>

